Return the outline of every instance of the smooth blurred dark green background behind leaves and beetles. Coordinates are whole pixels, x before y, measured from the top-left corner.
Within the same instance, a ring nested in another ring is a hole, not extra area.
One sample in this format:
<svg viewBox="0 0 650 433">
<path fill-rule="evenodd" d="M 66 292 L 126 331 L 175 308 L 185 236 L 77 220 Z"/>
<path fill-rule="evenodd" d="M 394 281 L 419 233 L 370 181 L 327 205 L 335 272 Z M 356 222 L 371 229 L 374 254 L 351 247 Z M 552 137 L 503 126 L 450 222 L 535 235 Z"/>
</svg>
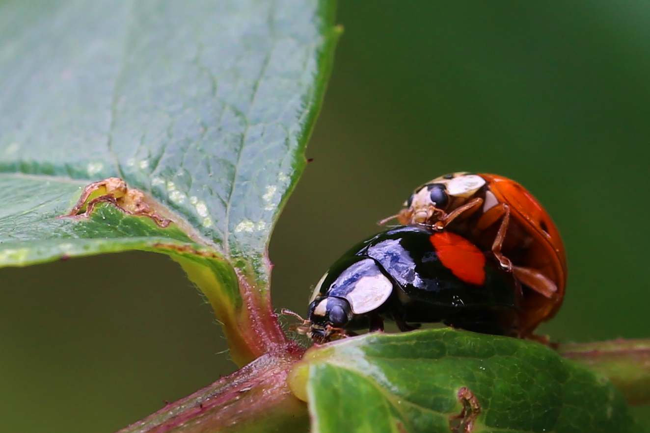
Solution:
<svg viewBox="0 0 650 433">
<path fill-rule="evenodd" d="M 541 332 L 650 337 L 650 3 L 357 0 L 338 21 L 314 160 L 270 245 L 276 308 L 304 313 L 418 184 L 486 171 L 525 185 L 564 236 L 567 295 Z M 166 256 L 0 269 L 0 287 L 0 432 L 110 432 L 234 369 Z"/>
</svg>

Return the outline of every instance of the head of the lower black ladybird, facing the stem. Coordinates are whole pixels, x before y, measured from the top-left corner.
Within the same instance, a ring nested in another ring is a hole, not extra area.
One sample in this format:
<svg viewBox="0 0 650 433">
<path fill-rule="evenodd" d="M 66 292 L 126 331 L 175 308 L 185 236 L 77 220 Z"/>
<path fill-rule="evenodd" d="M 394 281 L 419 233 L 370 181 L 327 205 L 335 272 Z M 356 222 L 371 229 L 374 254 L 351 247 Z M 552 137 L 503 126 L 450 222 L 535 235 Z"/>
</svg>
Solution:
<svg viewBox="0 0 650 433">
<path fill-rule="evenodd" d="M 309 336 L 316 343 L 330 341 L 332 336 L 344 336 L 343 327 L 352 317 L 350 303 L 343 298 L 319 297 L 309 305 Z"/>
</svg>

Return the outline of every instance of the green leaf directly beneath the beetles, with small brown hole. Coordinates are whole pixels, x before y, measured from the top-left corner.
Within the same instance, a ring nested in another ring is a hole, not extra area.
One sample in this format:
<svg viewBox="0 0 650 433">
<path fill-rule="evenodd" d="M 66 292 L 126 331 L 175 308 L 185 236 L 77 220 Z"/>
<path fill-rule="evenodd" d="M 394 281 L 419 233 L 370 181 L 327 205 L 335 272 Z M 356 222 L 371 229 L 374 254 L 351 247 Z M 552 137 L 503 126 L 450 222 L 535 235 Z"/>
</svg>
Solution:
<svg viewBox="0 0 650 433">
<path fill-rule="evenodd" d="M 289 385 L 318 433 L 641 431 L 606 378 L 549 347 L 449 328 L 315 347 Z"/>
</svg>

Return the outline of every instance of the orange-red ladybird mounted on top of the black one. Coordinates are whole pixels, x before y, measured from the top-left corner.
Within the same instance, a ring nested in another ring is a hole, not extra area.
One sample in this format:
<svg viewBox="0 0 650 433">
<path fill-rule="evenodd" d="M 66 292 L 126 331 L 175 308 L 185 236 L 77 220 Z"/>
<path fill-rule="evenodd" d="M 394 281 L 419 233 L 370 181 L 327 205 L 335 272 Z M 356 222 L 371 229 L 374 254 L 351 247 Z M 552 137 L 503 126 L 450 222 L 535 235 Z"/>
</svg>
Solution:
<svg viewBox="0 0 650 433">
<path fill-rule="evenodd" d="M 551 217 L 523 186 L 499 175 L 451 173 L 419 186 L 396 217 L 450 230 L 491 251 L 523 286 L 521 336 L 539 339 L 532 332 L 564 298 L 566 256 Z"/>
</svg>

